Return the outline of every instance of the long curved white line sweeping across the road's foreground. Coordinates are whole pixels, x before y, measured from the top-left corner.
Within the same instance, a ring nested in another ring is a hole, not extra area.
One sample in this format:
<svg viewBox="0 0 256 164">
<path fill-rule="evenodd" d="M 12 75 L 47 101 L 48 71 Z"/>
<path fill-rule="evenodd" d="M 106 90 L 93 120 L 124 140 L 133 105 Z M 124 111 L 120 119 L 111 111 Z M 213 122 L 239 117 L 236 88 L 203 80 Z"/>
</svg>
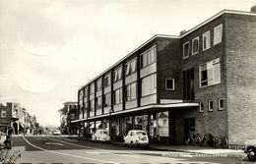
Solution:
<svg viewBox="0 0 256 164">
<path fill-rule="evenodd" d="M 117 162 L 111 162 L 111 161 L 106 161 L 106 160 L 100 160 L 100 159 L 96 159 L 96 158 L 89 158 L 89 157 L 84 157 L 84 156 L 79 156 L 79 155 L 71 155 L 71 154 L 67 154 L 67 153 L 63 153 L 63 152 L 58 152 L 58 151 L 53 151 L 53 150 L 47 150 L 44 148 L 41 148 L 39 146 L 36 146 L 34 144 L 32 144 L 29 140 L 27 140 L 27 138 L 23 137 L 24 140 L 29 143 L 30 145 L 32 145 L 33 147 L 46 151 L 46 152 L 51 152 L 51 153 L 55 153 L 55 154 L 59 154 L 59 155 L 64 155 L 64 156 L 70 156 L 70 157 L 75 157 L 75 158 L 81 158 L 81 159 L 87 159 L 87 160 L 93 160 L 93 161 L 97 161 L 97 162 L 102 162 L 102 163 L 115 163 L 115 164 L 120 164 Z"/>
</svg>

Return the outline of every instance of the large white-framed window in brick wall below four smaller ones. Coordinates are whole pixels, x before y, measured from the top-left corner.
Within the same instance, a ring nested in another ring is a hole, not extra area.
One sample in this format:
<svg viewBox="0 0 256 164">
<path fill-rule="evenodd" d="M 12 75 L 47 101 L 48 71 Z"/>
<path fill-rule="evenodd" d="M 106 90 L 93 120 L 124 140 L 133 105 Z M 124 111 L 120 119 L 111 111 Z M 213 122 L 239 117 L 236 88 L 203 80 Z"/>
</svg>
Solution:
<svg viewBox="0 0 256 164">
<path fill-rule="evenodd" d="M 200 87 L 221 82 L 220 58 L 199 66 Z"/>
</svg>

